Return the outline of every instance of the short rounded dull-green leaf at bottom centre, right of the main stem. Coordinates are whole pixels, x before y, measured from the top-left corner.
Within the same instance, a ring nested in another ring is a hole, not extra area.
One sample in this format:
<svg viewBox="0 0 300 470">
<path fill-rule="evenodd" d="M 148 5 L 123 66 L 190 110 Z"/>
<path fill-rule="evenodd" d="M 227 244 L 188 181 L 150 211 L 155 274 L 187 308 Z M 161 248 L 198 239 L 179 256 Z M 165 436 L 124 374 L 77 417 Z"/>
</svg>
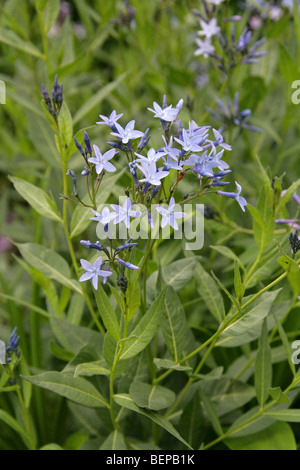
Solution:
<svg viewBox="0 0 300 470">
<path fill-rule="evenodd" d="M 149 385 L 138 380 L 131 384 L 129 394 L 138 406 L 154 411 L 169 408 L 176 398 L 175 393 L 166 387 Z"/>
</svg>

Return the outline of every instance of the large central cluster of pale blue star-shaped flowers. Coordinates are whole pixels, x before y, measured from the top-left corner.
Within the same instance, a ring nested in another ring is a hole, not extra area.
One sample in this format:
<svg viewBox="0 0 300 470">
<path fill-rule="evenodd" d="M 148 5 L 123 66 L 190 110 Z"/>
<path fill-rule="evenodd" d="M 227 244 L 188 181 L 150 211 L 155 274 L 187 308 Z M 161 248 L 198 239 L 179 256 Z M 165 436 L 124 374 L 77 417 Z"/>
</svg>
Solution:
<svg viewBox="0 0 300 470">
<path fill-rule="evenodd" d="M 114 249 L 109 224 L 112 223 L 111 227 L 123 224 L 127 230 L 130 230 L 132 220 L 136 219 L 139 223 L 138 219 L 143 215 L 134 207 L 136 203 L 140 203 L 147 209 L 151 228 L 154 225 L 153 213 L 151 215 L 151 210 L 154 207 L 160 217 L 162 229 L 169 226 L 178 230 L 178 220 L 183 220 L 186 213 L 176 207 L 175 192 L 187 173 L 194 175 L 195 181 L 198 180 L 200 191 L 194 195 L 183 197 L 181 203 L 185 202 L 185 199 L 191 200 L 202 194 L 213 192 L 235 199 L 245 211 L 247 202 L 241 196 L 242 188 L 238 183 L 236 183 L 237 193 L 215 189 L 229 184 L 229 182 L 223 181 L 231 173 L 229 165 L 223 160 L 223 155 L 225 151 L 232 150 L 231 146 L 224 141 L 220 131 L 210 126 L 199 126 L 195 121 L 190 121 L 185 128 L 181 120 L 178 120 L 182 107 L 182 99 L 173 107 L 168 105 L 166 96 L 164 96 L 162 106 L 154 102 L 153 108 L 148 108 L 154 114 L 154 118 L 160 119 L 164 131 L 159 148 L 148 147 L 151 138 L 149 129 L 145 132 L 135 129 L 134 120 L 122 127 L 118 120 L 123 115 L 117 114 L 115 110 L 109 117 L 100 115 L 102 121 L 98 122 L 100 125 L 107 125 L 111 135 L 116 139 L 113 142 L 108 142 L 112 147 L 111 150 L 102 153 L 97 145 L 91 146 L 87 134 L 84 135 L 85 150 L 77 141 L 77 143 L 75 142 L 89 167 L 87 171 L 91 174 L 95 172 L 97 175 L 97 187 L 101 184 L 106 172 L 116 171 L 117 165 L 115 166 L 112 160 L 117 156 L 119 159 L 122 154 L 126 155 L 133 185 L 131 197 L 129 197 L 129 191 L 125 191 L 127 198 L 122 205 L 110 204 L 110 208 L 105 207 L 99 212 L 94 208 L 91 209 L 93 214 L 91 220 L 99 222 L 103 226 L 110 247 L 106 248 L 99 241 L 95 243 L 81 241 L 86 248 L 102 251 L 105 256 L 98 257 L 93 264 L 84 259 L 81 260 L 85 273 L 81 276 L 80 282 L 92 280 L 94 288 L 97 289 L 98 279 L 101 278 L 103 283 L 106 283 L 113 274 L 111 270 L 113 268 L 117 272 L 119 281 L 122 280 L 120 283 L 125 290 L 127 284 L 124 281 L 126 280 L 124 270 L 139 269 L 128 260 L 131 250 L 137 244 L 132 243 L 129 239 Z M 175 133 L 171 135 L 173 129 Z M 137 139 L 139 141 L 135 143 Z M 75 177 L 71 171 L 69 174 L 72 178 Z"/>
</svg>

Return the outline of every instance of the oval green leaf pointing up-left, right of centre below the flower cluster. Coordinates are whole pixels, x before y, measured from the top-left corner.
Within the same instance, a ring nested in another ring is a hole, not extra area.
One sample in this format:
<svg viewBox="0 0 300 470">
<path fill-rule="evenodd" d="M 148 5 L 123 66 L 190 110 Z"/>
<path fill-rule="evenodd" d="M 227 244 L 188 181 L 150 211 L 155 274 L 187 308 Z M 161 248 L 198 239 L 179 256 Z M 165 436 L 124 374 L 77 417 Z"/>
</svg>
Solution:
<svg viewBox="0 0 300 470">
<path fill-rule="evenodd" d="M 196 279 L 200 283 L 199 294 L 203 298 L 210 313 L 218 322 L 222 322 L 225 314 L 225 308 L 222 295 L 213 278 L 199 264 L 195 269 Z"/>
</svg>

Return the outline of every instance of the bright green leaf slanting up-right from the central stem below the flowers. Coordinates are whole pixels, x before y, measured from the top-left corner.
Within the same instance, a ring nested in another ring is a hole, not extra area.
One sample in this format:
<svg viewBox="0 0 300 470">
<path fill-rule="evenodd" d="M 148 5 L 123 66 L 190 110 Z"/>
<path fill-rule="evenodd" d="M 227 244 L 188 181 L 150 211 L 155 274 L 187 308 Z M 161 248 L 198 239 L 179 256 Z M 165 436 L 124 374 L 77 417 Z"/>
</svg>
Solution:
<svg viewBox="0 0 300 470">
<path fill-rule="evenodd" d="M 137 336 L 138 339 L 125 344 L 120 359 L 129 359 L 130 357 L 136 356 L 150 343 L 158 329 L 160 317 L 164 310 L 166 292 L 167 288 L 161 292 L 147 313 L 133 329 L 131 336 Z"/>
</svg>

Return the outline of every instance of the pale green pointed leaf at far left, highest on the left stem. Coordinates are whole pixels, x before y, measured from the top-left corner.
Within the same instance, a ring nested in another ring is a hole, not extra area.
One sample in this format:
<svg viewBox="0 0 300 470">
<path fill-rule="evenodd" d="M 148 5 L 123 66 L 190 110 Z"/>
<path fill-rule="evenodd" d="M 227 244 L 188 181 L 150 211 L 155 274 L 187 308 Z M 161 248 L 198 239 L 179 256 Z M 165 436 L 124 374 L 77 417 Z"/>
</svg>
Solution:
<svg viewBox="0 0 300 470">
<path fill-rule="evenodd" d="M 50 199 L 45 191 L 21 178 L 9 176 L 9 180 L 13 183 L 16 191 L 39 214 L 56 222 L 62 222 L 55 202 Z"/>
</svg>

